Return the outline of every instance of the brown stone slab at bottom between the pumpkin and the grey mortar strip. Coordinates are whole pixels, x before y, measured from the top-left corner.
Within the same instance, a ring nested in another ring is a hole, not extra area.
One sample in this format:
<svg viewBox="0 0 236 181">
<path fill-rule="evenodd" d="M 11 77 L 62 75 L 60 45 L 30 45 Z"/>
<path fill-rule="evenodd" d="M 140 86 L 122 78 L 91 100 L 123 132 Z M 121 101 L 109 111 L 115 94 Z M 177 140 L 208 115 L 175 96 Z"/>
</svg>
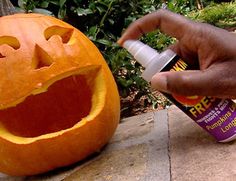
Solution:
<svg viewBox="0 0 236 181">
<path fill-rule="evenodd" d="M 65 180 L 139 180 L 146 173 L 148 146 L 138 144 L 100 155 Z M 127 177 L 128 176 L 128 177 Z"/>
</svg>

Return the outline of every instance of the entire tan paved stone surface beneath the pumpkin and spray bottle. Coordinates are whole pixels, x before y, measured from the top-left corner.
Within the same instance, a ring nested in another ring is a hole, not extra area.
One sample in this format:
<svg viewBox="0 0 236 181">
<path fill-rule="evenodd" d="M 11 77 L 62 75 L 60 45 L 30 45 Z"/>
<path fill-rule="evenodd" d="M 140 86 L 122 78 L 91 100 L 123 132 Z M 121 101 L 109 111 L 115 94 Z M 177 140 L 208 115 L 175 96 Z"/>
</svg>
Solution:
<svg viewBox="0 0 236 181">
<path fill-rule="evenodd" d="M 4 181 L 235 181 L 236 142 L 217 143 L 184 113 L 168 110 L 123 119 L 110 143 L 83 162 Z"/>
</svg>

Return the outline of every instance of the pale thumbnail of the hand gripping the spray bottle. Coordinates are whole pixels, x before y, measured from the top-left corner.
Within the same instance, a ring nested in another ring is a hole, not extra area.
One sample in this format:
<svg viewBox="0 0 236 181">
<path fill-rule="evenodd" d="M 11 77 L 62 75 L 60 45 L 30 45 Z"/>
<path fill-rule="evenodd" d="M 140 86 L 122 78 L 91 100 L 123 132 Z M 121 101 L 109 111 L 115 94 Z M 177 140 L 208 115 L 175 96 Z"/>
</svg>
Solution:
<svg viewBox="0 0 236 181">
<path fill-rule="evenodd" d="M 169 93 L 167 90 L 167 78 L 163 74 L 154 75 L 151 80 L 151 88 Z"/>
</svg>

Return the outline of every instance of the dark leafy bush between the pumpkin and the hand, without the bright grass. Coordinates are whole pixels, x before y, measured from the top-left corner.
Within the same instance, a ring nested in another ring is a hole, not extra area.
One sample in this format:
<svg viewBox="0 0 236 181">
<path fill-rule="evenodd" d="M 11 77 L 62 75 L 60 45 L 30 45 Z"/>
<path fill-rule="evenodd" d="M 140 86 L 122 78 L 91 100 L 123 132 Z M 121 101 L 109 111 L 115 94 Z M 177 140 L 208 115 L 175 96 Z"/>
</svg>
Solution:
<svg viewBox="0 0 236 181">
<path fill-rule="evenodd" d="M 118 85 L 121 100 L 129 97 L 130 104 L 122 104 L 126 112 L 140 99 L 142 106 L 157 104 L 156 97 L 141 77 L 142 67 L 128 52 L 116 44 L 122 31 L 135 19 L 160 8 L 161 1 L 147 0 L 19 0 L 25 12 L 54 14 L 86 34 L 102 52 Z M 41 9 L 40 9 L 41 8 Z M 45 8 L 47 11 L 45 11 Z M 170 38 L 161 33 L 149 34 L 143 41 L 163 49 Z"/>
</svg>

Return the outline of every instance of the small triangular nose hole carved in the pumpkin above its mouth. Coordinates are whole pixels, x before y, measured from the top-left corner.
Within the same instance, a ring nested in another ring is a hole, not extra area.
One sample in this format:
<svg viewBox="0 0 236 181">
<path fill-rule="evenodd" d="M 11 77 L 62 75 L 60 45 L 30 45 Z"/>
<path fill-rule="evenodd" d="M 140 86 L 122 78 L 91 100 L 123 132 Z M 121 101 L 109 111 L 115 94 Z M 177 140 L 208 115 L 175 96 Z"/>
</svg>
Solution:
<svg viewBox="0 0 236 181">
<path fill-rule="evenodd" d="M 43 67 L 49 67 L 52 63 L 52 57 L 43 48 L 36 44 L 34 49 L 32 67 L 34 69 L 40 69 Z"/>
</svg>

